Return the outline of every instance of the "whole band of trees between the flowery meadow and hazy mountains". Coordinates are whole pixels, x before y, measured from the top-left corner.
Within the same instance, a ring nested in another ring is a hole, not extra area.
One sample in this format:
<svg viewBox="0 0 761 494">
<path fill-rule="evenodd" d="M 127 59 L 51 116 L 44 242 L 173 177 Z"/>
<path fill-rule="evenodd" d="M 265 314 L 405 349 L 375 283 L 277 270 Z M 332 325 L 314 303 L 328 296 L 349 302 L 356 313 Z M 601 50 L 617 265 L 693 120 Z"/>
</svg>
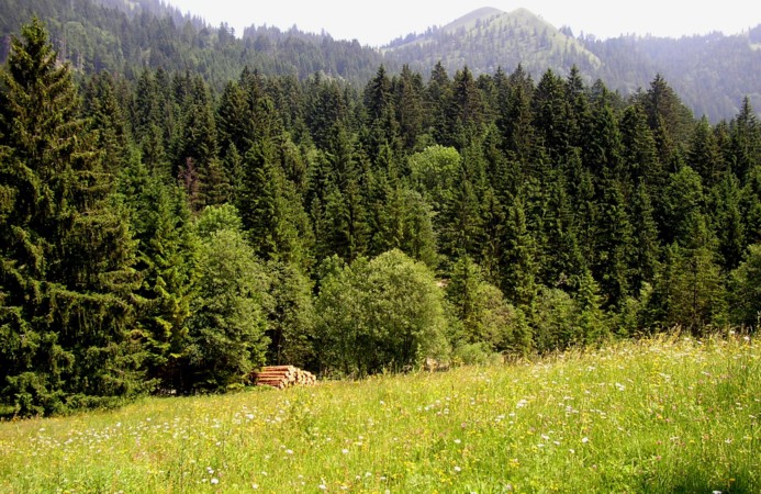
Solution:
<svg viewBox="0 0 761 494">
<path fill-rule="evenodd" d="M 4 415 L 759 324 L 747 99 L 712 126 L 661 77 L 521 66 L 77 89 L 37 20 L 1 78 Z"/>
</svg>

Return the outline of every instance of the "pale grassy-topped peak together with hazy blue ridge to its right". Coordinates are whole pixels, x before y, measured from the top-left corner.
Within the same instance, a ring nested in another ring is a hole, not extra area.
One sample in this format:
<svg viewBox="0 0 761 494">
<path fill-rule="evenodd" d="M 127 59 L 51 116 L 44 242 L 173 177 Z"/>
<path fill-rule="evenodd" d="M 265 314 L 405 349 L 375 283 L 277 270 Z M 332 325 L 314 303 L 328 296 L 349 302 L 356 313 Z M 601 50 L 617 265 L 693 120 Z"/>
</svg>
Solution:
<svg viewBox="0 0 761 494">
<path fill-rule="evenodd" d="M 444 27 L 395 40 L 383 52 L 387 64 L 410 64 L 424 72 L 438 60 L 448 70 L 467 65 L 477 76 L 522 64 L 538 77 L 547 68 L 568 74 L 575 65 L 590 82 L 601 78 L 625 96 L 661 74 L 696 115 L 713 122 L 736 114 L 746 96 L 761 108 L 761 25 L 728 36 L 598 41 L 575 38 L 570 27 L 558 30 L 526 9 L 479 9 Z"/>
</svg>

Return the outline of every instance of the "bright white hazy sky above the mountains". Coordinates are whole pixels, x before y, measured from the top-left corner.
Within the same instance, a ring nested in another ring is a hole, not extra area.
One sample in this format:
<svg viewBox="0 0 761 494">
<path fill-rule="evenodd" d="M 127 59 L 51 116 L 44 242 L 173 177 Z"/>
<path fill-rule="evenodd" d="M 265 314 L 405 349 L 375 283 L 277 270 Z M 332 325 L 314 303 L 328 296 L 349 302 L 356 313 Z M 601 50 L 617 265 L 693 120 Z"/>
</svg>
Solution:
<svg viewBox="0 0 761 494">
<path fill-rule="evenodd" d="M 761 2 L 754 0 L 167 0 L 183 12 L 204 18 L 212 25 L 227 22 L 239 35 L 251 24 L 280 29 L 296 24 L 302 31 L 324 29 L 337 40 L 359 40 L 382 45 L 430 25 L 444 25 L 479 7 L 511 11 L 525 7 L 573 33 L 615 37 L 652 34 L 679 37 L 721 31 L 739 33 L 761 23 Z"/>
</svg>

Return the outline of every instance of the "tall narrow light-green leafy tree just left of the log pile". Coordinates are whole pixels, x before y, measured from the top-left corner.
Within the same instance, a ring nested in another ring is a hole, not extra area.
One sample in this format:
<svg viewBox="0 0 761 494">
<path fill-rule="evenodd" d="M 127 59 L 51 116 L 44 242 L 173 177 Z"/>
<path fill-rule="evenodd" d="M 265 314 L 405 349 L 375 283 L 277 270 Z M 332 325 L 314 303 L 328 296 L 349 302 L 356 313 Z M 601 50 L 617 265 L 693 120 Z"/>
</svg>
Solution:
<svg viewBox="0 0 761 494">
<path fill-rule="evenodd" d="M 240 385 L 265 363 L 269 280 L 233 206 L 199 218 L 198 289 L 186 321 L 182 391 Z"/>
</svg>

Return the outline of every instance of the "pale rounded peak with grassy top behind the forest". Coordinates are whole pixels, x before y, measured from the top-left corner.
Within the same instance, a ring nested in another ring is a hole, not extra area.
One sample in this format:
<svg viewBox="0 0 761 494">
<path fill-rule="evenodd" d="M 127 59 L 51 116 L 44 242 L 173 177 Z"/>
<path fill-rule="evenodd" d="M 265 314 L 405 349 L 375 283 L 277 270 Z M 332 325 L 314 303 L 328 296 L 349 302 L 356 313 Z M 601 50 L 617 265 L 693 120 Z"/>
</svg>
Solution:
<svg viewBox="0 0 761 494">
<path fill-rule="evenodd" d="M 573 65 L 595 71 L 601 60 L 573 37 L 526 9 L 479 9 L 421 36 L 392 42 L 387 59 L 425 71 L 441 60 L 454 72 L 467 65 L 474 74 L 512 70 L 518 64 L 535 76 L 547 68 L 567 72 Z"/>
</svg>

